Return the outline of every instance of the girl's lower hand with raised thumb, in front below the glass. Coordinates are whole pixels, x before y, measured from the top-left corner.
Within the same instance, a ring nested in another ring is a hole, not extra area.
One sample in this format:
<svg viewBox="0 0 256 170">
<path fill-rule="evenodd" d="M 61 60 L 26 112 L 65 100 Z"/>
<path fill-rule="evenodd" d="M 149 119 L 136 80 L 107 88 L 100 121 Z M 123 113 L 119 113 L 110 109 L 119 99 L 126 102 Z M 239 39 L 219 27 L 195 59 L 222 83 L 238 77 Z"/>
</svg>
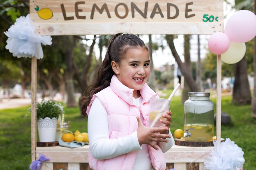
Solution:
<svg viewBox="0 0 256 170">
<path fill-rule="evenodd" d="M 168 130 L 168 127 L 148 128 L 142 124 L 141 119 L 139 117 L 136 118 L 138 121 L 137 136 L 139 145 L 148 144 L 152 146 L 155 150 L 158 150 L 155 142 L 168 142 L 167 139 L 163 138 L 171 137 L 171 135 L 161 134 L 161 132 L 165 132 L 166 130 Z"/>
</svg>

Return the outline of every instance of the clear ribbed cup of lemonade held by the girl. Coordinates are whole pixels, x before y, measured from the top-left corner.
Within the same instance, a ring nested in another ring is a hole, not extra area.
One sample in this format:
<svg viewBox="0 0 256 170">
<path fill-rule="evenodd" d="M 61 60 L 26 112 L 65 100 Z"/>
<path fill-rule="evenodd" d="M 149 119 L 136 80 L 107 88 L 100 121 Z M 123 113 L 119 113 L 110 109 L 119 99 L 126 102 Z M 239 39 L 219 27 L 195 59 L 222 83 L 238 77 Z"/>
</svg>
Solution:
<svg viewBox="0 0 256 170">
<path fill-rule="evenodd" d="M 150 99 L 150 114 L 149 114 L 149 127 L 163 127 L 165 124 L 160 122 L 163 114 L 169 110 L 171 100 L 159 97 L 152 97 Z"/>
</svg>

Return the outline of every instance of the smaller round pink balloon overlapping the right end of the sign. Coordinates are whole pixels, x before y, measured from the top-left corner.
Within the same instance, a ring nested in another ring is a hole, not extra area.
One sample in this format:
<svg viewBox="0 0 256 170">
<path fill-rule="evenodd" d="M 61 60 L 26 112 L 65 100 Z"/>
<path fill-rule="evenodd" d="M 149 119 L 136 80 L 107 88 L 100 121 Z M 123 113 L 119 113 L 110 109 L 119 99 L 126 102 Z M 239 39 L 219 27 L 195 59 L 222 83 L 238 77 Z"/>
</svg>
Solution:
<svg viewBox="0 0 256 170">
<path fill-rule="evenodd" d="M 229 38 L 225 33 L 213 33 L 208 40 L 209 50 L 214 54 L 223 54 L 229 49 Z"/>
</svg>

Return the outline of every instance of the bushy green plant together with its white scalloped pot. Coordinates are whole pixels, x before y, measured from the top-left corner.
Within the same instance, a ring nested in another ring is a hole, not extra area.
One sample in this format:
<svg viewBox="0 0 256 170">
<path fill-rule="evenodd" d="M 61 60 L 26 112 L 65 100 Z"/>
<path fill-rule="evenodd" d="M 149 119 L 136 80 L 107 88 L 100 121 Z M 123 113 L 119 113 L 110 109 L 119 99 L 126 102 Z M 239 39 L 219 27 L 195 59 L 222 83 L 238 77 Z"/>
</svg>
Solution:
<svg viewBox="0 0 256 170">
<path fill-rule="evenodd" d="M 31 112 L 31 108 L 29 108 Z M 63 106 L 52 99 L 36 104 L 37 128 L 40 142 L 55 141 L 57 119 L 64 114 Z"/>
</svg>

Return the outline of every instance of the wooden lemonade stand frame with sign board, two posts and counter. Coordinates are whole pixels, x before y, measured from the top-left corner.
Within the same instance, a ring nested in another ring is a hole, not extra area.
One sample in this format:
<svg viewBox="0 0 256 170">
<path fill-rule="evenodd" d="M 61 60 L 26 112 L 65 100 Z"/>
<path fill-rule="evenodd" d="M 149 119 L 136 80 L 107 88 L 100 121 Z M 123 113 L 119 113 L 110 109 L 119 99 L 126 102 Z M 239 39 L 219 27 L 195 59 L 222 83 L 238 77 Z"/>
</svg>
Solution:
<svg viewBox="0 0 256 170">
<path fill-rule="evenodd" d="M 37 10 L 37 11 L 36 11 Z M 212 34 L 223 32 L 223 0 L 30 0 L 30 17 L 39 35 L 88 35 L 129 32 L 133 34 Z M 148 29 L 150 28 L 150 29 Z M 42 170 L 58 169 L 54 163 L 68 163 L 69 170 L 88 166 L 88 146 L 82 148 L 36 147 L 37 60 L 31 64 L 31 158 L 50 158 Z M 217 56 L 216 136 L 221 137 L 221 55 Z M 203 162 L 213 147 L 173 146 L 165 153 L 168 168 L 185 169 Z M 68 153 L 65 157 L 63 153 Z M 82 159 L 80 156 L 84 159 Z M 198 157 L 194 157 L 198 155 Z M 85 163 L 85 164 L 84 164 Z M 171 163 L 171 164 L 170 164 Z M 70 168 L 69 168 L 70 167 Z M 86 168 L 88 169 L 88 168 Z M 191 168 L 188 168 L 191 169 Z M 65 168 L 63 169 L 65 170 Z"/>
</svg>

